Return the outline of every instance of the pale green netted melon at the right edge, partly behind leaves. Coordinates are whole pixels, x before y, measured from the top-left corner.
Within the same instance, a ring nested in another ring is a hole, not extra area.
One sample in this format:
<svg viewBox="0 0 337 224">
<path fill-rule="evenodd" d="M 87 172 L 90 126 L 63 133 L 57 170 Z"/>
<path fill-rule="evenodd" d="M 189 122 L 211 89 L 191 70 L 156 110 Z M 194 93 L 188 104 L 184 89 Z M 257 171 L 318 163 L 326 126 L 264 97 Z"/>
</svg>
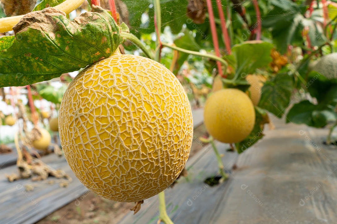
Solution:
<svg viewBox="0 0 337 224">
<path fill-rule="evenodd" d="M 310 62 L 309 71 L 319 72 L 327 79 L 337 79 L 337 53 L 327 54 Z"/>
</svg>

